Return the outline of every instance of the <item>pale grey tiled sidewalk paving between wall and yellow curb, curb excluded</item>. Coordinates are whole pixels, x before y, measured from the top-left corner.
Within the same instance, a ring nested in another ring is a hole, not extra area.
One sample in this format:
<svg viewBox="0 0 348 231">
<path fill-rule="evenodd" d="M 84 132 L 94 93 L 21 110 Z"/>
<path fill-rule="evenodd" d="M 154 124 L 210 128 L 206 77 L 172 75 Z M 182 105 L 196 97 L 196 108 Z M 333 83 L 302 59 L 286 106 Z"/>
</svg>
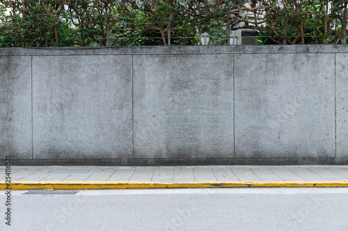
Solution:
<svg viewBox="0 0 348 231">
<path fill-rule="evenodd" d="M 5 170 L 1 170 L 3 181 Z M 348 166 L 16 166 L 11 170 L 14 181 L 348 180 Z"/>
</svg>

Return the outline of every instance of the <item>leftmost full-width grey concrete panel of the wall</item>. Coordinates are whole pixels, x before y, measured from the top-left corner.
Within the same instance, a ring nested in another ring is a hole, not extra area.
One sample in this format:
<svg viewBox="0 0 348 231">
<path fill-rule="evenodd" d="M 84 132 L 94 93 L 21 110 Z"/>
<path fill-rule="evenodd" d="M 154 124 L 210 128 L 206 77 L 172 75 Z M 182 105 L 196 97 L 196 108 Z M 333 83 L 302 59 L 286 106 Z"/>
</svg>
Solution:
<svg viewBox="0 0 348 231">
<path fill-rule="evenodd" d="M 33 157 L 132 157 L 132 56 L 33 57 Z"/>
</svg>

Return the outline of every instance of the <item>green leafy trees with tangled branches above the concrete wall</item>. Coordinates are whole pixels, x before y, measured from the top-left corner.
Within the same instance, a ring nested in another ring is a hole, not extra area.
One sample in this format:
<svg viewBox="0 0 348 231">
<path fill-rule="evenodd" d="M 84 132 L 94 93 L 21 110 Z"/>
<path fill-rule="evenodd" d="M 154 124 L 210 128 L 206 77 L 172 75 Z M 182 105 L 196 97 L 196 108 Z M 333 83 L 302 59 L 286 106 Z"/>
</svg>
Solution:
<svg viewBox="0 0 348 231">
<path fill-rule="evenodd" d="M 348 0 L 0 0 L 0 46 L 227 44 L 227 31 L 260 44 L 342 43 Z M 170 39 L 169 39 L 170 38 Z"/>
</svg>

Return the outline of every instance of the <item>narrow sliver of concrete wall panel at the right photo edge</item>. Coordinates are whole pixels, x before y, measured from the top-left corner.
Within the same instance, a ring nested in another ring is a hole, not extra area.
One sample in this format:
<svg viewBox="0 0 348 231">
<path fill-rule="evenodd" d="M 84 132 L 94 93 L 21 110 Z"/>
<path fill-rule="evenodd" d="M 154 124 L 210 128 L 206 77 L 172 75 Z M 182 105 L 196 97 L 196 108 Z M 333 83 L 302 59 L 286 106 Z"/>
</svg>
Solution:
<svg viewBox="0 0 348 231">
<path fill-rule="evenodd" d="M 337 157 L 348 157 L 348 53 L 336 60 L 336 136 Z"/>
</svg>

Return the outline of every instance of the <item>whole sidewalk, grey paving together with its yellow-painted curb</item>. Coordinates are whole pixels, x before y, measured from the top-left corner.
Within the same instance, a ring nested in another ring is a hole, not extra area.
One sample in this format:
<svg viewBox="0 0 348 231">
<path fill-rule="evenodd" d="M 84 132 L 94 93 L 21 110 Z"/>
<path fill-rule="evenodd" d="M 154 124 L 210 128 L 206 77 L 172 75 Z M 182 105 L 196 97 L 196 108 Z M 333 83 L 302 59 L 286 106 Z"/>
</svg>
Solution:
<svg viewBox="0 0 348 231">
<path fill-rule="evenodd" d="M 0 189 L 6 189 L 0 166 Z M 348 166 L 11 166 L 15 189 L 348 187 Z"/>
</svg>

